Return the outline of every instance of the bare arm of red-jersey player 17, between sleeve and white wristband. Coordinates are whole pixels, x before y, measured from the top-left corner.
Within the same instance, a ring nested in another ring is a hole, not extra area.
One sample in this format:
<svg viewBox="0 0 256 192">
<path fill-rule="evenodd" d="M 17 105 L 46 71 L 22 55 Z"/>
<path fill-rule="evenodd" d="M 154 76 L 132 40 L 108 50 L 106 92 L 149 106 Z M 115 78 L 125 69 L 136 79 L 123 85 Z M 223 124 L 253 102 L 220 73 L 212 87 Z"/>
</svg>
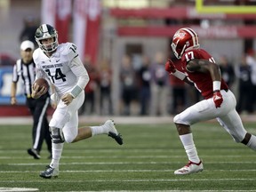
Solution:
<svg viewBox="0 0 256 192">
<path fill-rule="evenodd" d="M 221 81 L 220 68 L 209 60 L 190 60 L 187 65 L 189 72 L 210 73 L 212 81 Z"/>
</svg>

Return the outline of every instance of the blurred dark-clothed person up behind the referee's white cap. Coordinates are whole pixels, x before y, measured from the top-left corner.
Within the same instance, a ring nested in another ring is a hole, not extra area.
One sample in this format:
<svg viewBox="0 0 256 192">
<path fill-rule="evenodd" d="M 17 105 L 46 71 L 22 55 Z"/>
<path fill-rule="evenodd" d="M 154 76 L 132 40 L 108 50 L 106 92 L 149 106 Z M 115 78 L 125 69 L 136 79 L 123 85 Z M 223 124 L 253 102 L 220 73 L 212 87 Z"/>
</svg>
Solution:
<svg viewBox="0 0 256 192">
<path fill-rule="evenodd" d="M 33 42 L 33 44 L 36 44 L 35 34 L 36 34 L 36 20 L 32 16 L 28 16 L 23 20 L 23 28 L 20 33 L 20 42 L 29 40 Z"/>
</svg>

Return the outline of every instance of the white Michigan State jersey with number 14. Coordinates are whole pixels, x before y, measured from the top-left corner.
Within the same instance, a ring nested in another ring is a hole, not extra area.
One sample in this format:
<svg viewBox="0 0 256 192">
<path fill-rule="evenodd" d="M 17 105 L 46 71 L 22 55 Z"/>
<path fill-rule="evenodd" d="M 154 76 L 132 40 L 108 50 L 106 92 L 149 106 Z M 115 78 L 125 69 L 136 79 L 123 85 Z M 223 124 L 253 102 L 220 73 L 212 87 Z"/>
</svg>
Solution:
<svg viewBox="0 0 256 192">
<path fill-rule="evenodd" d="M 48 78 L 59 97 L 71 92 L 76 85 L 84 90 L 89 82 L 88 73 L 78 57 L 75 44 L 59 44 L 50 58 L 37 48 L 33 59 L 36 63 L 36 78 Z"/>
</svg>

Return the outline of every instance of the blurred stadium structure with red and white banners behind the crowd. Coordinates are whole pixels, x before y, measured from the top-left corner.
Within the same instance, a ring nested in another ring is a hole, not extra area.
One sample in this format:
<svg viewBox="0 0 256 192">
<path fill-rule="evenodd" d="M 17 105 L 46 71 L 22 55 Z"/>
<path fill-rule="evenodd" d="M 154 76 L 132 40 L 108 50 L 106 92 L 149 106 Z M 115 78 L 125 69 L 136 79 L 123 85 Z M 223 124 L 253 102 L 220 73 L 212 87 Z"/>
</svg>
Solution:
<svg viewBox="0 0 256 192">
<path fill-rule="evenodd" d="M 9 105 L 12 64 L 19 58 L 19 36 L 28 17 L 36 20 L 37 25 L 54 25 L 59 30 L 60 43 L 74 42 L 82 58 L 91 55 L 93 65 L 109 60 L 116 116 L 120 115 L 118 76 L 124 54 L 131 55 L 134 66 L 143 55 L 153 60 L 156 52 L 163 52 L 168 58 L 171 37 L 180 27 L 195 28 L 203 48 L 212 52 L 215 60 L 225 53 L 234 66 L 239 65 L 244 53 L 256 49 L 256 12 L 239 12 L 239 6 L 255 6 L 255 1 L 204 1 L 205 6 L 236 5 L 232 12 L 218 12 L 217 7 L 213 12 L 201 13 L 195 4 L 195 0 L 1 0 L 0 116 L 29 116 L 22 90 L 18 90 L 20 105 Z M 237 94 L 237 82 L 233 89 Z"/>
</svg>

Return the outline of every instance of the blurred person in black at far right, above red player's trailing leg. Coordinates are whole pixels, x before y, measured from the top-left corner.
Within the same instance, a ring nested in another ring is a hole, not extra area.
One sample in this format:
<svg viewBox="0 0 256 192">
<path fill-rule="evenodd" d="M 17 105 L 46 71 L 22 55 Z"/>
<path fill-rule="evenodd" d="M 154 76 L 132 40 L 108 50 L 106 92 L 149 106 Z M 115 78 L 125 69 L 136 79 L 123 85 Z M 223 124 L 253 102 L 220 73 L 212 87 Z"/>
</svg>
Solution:
<svg viewBox="0 0 256 192">
<path fill-rule="evenodd" d="M 239 114 L 243 111 L 247 113 L 253 112 L 252 106 L 252 80 L 251 73 L 252 68 L 246 62 L 245 56 L 241 60 L 241 64 L 237 70 L 237 77 L 239 79 L 239 88 L 238 88 L 238 101 L 236 110 Z"/>
</svg>

